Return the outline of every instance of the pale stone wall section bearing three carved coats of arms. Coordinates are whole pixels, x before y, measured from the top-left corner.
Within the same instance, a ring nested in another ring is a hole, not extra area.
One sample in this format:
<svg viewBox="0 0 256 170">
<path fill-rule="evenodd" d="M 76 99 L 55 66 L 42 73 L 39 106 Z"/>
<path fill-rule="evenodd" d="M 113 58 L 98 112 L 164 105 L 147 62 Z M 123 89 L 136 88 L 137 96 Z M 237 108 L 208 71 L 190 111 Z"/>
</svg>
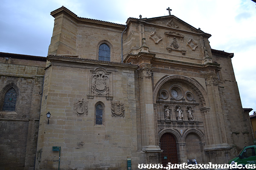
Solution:
<svg viewBox="0 0 256 170">
<path fill-rule="evenodd" d="M 134 168 L 143 158 L 137 153 L 137 66 L 57 56 L 48 60 L 52 65 L 44 79 L 36 169 L 58 168 L 53 146 L 61 147 L 61 169 L 125 169 L 131 157 Z M 94 75 L 108 77 L 108 93 L 99 94 Z M 79 103 L 83 109 L 78 111 Z M 102 125 L 95 118 L 99 103 Z"/>
</svg>

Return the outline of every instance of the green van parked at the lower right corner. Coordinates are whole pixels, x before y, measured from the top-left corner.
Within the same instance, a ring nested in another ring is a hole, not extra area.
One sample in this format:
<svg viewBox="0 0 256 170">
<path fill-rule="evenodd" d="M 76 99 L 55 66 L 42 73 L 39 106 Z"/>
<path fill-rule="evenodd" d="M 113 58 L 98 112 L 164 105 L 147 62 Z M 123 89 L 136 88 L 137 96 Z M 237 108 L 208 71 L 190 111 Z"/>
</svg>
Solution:
<svg viewBox="0 0 256 170">
<path fill-rule="evenodd" d="M 238 169 L 256 170 L 256 145 L 244 147 L 229 164 L 237 163 Z"/>
</svg>

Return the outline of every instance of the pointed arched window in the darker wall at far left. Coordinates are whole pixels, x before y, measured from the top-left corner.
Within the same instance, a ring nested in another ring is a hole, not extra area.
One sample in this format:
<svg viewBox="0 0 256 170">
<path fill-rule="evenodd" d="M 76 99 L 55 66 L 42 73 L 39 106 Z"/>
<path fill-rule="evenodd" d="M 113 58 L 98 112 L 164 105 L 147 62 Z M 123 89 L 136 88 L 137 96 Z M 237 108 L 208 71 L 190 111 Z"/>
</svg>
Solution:
<svg viewBox="0 0 256 170">
<path fill-rule="evenodd" d="M 2 111 L 15 111 L 16 101 L 17 92 L 14 88 L 10 88 L 4 95 Z"/>
</svg>

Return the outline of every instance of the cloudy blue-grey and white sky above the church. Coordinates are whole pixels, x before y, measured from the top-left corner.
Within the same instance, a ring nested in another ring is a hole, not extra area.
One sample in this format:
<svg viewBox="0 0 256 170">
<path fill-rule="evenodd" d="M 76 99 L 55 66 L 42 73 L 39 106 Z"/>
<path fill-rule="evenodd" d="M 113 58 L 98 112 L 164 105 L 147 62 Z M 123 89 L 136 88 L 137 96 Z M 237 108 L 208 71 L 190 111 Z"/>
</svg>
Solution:
<svg viewBox="0 0 256 170">
<path fill-rule="evenodd" d="M 211 48 L 234 53 L 243 108 L 256 111 L 256 4 L 251 0 L 1 0 L 0 52 L 47 56 L 54 18 L 65 6 L 79 17 L 125 24 L 128 17 L 171 14 L 209 33 Z M 253 113 L 250 112 L 250 114 Z"/>
</svg>

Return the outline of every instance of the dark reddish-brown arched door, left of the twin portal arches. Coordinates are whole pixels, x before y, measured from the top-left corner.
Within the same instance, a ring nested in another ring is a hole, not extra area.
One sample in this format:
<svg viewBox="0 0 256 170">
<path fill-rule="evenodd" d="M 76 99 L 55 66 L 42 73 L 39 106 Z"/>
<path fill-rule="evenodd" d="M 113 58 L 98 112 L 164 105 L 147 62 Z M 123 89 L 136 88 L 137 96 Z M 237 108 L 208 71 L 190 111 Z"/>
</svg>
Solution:
<svg viewBox="0 0 256 170">
<path fill-rule="evenodd" d="M 172 164 L 178 163 L 177 145 L 174 136 L 171 133 L 164 133 L 160 139 L 160 148 L 162 164 L 166 165 L 168 162 Z"/>
</svg>

